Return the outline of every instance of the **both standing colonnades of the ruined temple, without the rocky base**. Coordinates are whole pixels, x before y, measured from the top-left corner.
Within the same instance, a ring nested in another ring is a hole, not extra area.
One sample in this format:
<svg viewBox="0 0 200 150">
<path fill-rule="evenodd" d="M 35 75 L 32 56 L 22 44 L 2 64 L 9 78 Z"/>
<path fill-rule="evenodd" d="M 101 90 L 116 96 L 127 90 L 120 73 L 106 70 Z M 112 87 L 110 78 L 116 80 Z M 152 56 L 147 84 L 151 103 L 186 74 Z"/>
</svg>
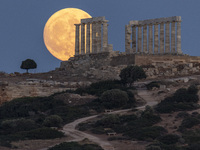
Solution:
<svg viewBox="0 0 200 150">
<path fill-rule="evenodd" d="M 105 17 L 81 19 L 75 26 L 75 56 L 113 51 Z M 182 55 L 181 17 L 130 21 L 125 26 L 125 53 Z"/>
</svg>

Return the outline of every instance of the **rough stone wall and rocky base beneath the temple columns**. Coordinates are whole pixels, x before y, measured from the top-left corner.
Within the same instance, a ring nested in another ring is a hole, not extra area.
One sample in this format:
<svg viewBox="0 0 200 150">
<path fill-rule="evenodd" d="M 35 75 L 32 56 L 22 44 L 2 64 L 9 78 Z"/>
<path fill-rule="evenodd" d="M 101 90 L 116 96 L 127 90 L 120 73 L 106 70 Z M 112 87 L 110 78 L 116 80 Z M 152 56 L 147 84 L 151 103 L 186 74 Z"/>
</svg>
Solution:
<svg viewBox="0 0 200 150">
<path fill-rule="evenodd" d="M 80 77 L 97 80 L 119 79 L 127 65 L 142 66 L 148 78 L 198 74 L 200 57 L 187 55 L 144 55 L 119 52 L 75 57 L 61 63 L 61 68 Z"/>
</svg>

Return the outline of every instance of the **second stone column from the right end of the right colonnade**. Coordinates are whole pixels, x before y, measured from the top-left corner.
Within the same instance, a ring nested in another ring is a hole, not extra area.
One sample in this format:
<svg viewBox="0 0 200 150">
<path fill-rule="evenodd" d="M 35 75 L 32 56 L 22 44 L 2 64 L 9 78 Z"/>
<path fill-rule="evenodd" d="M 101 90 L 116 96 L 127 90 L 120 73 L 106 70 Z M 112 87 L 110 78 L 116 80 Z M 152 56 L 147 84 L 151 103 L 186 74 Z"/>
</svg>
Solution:
<svg viewBox="0 0 200 150">
<path fill-rule="evenodd" d="M 176 54 L 176 22 L 171 23 L 171 53 Z"/>
</svg>

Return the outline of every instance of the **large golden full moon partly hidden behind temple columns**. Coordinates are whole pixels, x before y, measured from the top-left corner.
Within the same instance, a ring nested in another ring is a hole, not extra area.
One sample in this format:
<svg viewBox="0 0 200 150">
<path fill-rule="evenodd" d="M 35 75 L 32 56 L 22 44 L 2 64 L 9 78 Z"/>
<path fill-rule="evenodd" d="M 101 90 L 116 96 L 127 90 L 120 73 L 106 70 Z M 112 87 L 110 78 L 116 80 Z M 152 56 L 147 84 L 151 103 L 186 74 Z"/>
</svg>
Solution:
<svg viewBox="0 0 200 150">
<path fill-rule="evenodd" d="M 54 13 L 44 27 L 44 43 L 49 52 L 62 61 L 75 54 L 75 26 L 81 19 L 91 18 L 85 11 L 65 8 Z"/>
</svg>

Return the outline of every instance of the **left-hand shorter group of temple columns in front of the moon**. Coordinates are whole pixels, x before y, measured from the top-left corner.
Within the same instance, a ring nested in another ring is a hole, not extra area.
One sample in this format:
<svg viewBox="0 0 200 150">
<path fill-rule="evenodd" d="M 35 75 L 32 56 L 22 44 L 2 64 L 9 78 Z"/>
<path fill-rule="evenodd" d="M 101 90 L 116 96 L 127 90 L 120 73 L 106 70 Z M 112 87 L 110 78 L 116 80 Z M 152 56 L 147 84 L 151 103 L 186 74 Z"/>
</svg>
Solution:
<svg viewBox="0 0 200 150">
<path fill-rule="evenodd" d="M 112 51 L 112 45 L 108 44 L 108 20 L 105 17 L 81 19 L 81 24 L 75 26 L 75 56 Z"/>
</svg>

